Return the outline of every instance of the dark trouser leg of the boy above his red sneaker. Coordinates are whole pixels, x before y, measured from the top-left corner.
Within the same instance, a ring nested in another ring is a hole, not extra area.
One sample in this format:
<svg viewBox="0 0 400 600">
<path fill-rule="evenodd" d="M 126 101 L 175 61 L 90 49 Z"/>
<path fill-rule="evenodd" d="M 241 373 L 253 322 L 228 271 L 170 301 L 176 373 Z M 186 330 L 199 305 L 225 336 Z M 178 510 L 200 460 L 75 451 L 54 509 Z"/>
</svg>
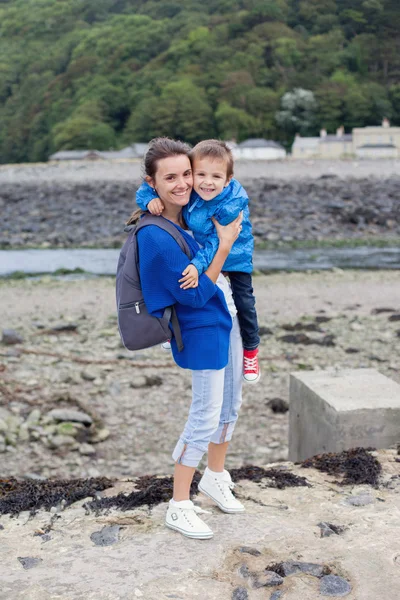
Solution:
<svg viewBox="0 0 400 600">
<path fill-rule="evenodd" d="M 251 273 L 232 271 L 228 273 L 231 281 L 233 300 L 238 311 L 243 348 L 255 350 L 260 344 L 256 312 L 256 299 L 253 294 Z"/>
</svg>

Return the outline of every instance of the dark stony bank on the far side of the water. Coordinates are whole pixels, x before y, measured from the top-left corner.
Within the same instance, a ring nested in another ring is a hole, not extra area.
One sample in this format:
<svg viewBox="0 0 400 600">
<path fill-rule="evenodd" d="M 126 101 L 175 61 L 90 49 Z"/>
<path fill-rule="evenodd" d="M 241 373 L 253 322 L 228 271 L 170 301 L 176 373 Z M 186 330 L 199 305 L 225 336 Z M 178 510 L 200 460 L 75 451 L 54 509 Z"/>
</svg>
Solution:
<svg viewBox="0 0 400 600">
<path fill-rule="evenodd" d="M 399 164 L 238 163 L 256 244 L 395 244 Z M 120 247 L 139 182 L 140 163 L 3 166 L 0 248 Z"/>
</svg>

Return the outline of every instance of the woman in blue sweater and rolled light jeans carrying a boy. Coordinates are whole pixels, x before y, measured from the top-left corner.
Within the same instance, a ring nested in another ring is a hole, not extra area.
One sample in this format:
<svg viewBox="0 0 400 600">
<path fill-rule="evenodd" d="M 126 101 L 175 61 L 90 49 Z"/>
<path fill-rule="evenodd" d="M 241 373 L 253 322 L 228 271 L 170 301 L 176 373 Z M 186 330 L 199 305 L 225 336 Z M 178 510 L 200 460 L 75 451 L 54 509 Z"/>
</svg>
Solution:
<svg viewBox="0 0 400 600">
<path fill-rule="evenodd" d="M 193 185 L 189 151 L 189 146 L 182 142 L 156 138 L 150 143 L 144 163 L 146 181 L 157 190 L 165 207 L 160 219 L 174 223 L 195 254 L 199 246 L 185 231 L 181 212 L 189 202 Z M 205 452 L 208 451 L 208 467 L 199 490 L 224 512 L 244 511 L 231 492 L 232 481 L 224 470 L 241 404 L 243 346 L 230 288 L 220 275 L 239 235 L 240 222 L 241 216 L 225 227 L 215 222 L 218 251 L 197 286 L 189 289 L 182 283 L 189 260 L 172 236 L 149 225 L 137 237 L 146 307 L 150 314 L 159 317 L 166 306 L 175 304 L 184 349 L 178 352 L 172 339 L 173 356 L 179 366 L 193 371 L 189 417 L 172 454 L 174 489 L 166 525 L 198 539 L 213 536 L 198 516 L 204 511 L 190 501 L 193 475 Z"/>
</svg>

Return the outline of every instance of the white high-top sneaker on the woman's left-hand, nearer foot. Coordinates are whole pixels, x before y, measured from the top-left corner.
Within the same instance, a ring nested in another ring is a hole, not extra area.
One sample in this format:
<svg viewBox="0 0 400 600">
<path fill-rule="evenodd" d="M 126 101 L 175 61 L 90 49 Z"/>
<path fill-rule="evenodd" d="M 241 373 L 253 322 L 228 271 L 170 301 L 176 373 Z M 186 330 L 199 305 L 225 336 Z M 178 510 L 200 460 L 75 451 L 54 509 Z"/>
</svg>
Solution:
<svg viewBox="0 0 400 600">
<path fill-rule="evenodd" d="M 181 500 L 174 504 L 170 500 L 165 524 L 186 537 L 208 540 L 214 534 L 209 526 L 197 516 L 202 513 L 208 513 L 208 511 L 195 506 L 191 500 Z"/>
</svg>

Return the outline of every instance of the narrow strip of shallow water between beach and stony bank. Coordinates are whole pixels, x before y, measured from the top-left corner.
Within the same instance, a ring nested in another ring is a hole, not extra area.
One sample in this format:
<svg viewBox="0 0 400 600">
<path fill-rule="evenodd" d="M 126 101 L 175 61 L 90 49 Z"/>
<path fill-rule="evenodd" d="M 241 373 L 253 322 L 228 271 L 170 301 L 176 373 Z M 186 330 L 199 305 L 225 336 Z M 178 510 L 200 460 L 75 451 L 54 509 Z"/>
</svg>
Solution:
<svg viewBox="0 0 400 600">
<path fill-rule="evenodd" d="M 83 269 L 95 275 L 114 275 L 119 250 L 59 249 L 2 250 L 0 276 L 16 271 L 54 273 L 59 269 Z M 308 271 L 341 269 L 400 269 L 400 248 L 302 248 L 257 250 L 254 268 L 259 271 Z"/>
</svg>

